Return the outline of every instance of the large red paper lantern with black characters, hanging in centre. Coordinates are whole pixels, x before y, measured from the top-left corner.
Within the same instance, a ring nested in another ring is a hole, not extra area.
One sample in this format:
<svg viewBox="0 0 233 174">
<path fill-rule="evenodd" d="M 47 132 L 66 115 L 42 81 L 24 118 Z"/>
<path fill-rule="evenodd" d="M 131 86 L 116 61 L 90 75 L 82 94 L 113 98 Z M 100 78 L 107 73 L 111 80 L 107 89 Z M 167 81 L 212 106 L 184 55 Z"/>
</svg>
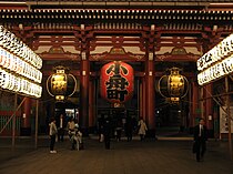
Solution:
<svg viewBox="0 0 233 174">
<path fill-rule="evenodd" d="M 102 66 L 100 78 L 101 96 L 111 103 L 124 103 L 133 95 L 133 68 L 114 61 Z"/>
</svg>

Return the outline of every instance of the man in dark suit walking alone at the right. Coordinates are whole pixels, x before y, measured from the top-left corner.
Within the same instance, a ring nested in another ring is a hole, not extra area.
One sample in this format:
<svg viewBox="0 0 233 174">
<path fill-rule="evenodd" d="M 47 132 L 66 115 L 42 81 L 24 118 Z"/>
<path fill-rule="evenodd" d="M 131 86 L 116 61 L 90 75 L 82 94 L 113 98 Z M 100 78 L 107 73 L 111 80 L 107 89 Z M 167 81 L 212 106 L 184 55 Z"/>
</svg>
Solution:
<svg viewBox="0 0 233 174">
<path fill-rule="evenodd" d="M 206 151 L 207 129 L 204 124 L 204 120 L 200 119 L 199 124 L 194 127 L 193 152 L 196 154 L 197 162 L 203 161 Z"/>
</svg>

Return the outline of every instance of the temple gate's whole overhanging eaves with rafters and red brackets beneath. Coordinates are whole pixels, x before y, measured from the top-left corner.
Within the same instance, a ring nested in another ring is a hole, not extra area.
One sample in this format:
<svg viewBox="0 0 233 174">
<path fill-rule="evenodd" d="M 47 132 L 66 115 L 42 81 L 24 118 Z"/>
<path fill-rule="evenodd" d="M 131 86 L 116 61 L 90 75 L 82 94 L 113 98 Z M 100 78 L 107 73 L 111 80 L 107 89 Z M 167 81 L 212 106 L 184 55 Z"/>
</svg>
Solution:
<svg viewBox="0 0 233 174">
<path fill-rule="evenodd" d="M 31 44 L 33 50 L 39 45 L 57 44 L 62 41 L 62 45 L 75 45 L 75 49 L 80 50 L 81 43 L 88 43 L 89 40 L 91 40 L 89 50 L 94 50 L 98 44 L 104 47 L 113 44 L 108 42 L 114 40 L 111 37 L 120 37 L 114 42 L 122 45 L 136 44 L 143 51 L 145 48 L 143 39 L 149 40 L 150 49 L 153 49 L 155 43 L 158 50 L 182 43 L 183 47 L 189 45 L 200 50 L 202 40 L 210 39 L 207 45 L 212 47 L 233 31 L 233 3 L 223 3 L 230 0 L 214 0 L 220 3 L 213 4 L 210 0 L 189 0 L 189 2 L 186 0 L 26 0 L 26 3 L 14 6 L 10 6 L 10 1 L 6 2 L 8 4 L 0 0 L 0 24 Z M 107 7 L 108 2 L 114 2 L 115 6 Z M 131 6 L 134 2 L 138 6 Z M 156 2 L 161 2 L 161 6 L 155 6 Z M 185 6 L 181 6 L 180 2 Z M 191 2 L 194 3 L 189 6 Z M 93 3 L 98 6 L 91 6 Z M 120 3 L 124 6 L 116 6 Z M 140 3 L 142 6 L 139 6 Z M 104 38 L 105 35 L 110 38 Z M 134 40 L 128 40 L 129 35 L 134 37 Z M 190 37 L 194 39 L 190 41 Z M 180 40 L 176 41 L 176 38 Z"/>
</svg>

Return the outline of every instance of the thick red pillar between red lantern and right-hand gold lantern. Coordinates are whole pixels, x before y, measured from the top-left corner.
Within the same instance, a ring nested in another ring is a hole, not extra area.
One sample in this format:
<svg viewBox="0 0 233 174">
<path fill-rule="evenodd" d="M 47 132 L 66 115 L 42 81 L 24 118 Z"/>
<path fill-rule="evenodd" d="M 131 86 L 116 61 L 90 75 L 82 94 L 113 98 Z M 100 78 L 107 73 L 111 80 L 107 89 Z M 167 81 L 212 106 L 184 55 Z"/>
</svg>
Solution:
<svg viewBox="0 0 233 174">
<path fill-rule="evenodd" d="M 151 55 L 153 57 L 153 54 Z M 155 114 L 154 114 L 154 62 L 149 59 L 145 62 L 145 113 L 149 130 L 155 130 Z"/>
</svg>

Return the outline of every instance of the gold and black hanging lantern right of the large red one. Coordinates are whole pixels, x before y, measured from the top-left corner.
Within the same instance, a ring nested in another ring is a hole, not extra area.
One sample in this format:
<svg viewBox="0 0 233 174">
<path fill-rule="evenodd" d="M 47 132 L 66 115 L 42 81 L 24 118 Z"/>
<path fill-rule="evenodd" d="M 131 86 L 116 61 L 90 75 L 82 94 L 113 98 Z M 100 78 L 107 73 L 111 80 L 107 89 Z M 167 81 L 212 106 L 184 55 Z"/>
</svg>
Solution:
<svg viewBox="0 0 233 174">
<path fill-rule="evenodd" d="M 178 103 L 188 93 L 188 80 L 180 74 L 181 69 L 169 69 L 170 74 L 159 80 L 159 92 L 163 98 L 169 98 L 172 103 Z"/>
</svg>

